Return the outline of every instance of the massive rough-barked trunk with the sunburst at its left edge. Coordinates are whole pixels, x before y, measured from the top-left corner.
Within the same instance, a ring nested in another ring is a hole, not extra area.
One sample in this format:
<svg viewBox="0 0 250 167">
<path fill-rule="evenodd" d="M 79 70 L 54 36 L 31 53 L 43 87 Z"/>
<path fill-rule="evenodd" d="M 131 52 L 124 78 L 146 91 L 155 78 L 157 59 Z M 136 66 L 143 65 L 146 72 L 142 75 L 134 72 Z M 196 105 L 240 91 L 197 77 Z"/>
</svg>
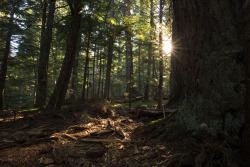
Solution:
<svg viewBox="0 0 250 167">
<path fill-rule="evenodd" d="M 174 0 L 173 9 L 170 104 L 181 104 L 178 123 L 237 135 L 245 106 L 242 0 Z"/>
</svg>

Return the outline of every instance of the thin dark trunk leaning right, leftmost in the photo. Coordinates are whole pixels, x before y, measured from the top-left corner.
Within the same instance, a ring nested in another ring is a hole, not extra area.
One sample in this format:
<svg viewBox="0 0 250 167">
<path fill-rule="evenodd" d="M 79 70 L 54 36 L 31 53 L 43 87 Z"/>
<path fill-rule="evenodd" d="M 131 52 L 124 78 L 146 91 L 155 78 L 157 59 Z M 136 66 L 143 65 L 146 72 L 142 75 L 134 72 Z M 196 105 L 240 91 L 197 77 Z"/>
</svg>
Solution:
<svg viewBox="0 0 250 167">
<path fill-rule="evenodd" d="M 14 13 L 15 13 L 15 1 L 12 0 L 11 9 L 10 9 L 9 27 L 8 27 L 5 50 L 4 50 L 4 55 L 2 59 L 1 71 L 0 71 L 0 111 L 3 110 L 3 106 L 4 106 L 4 87 L 5 87 L 5 80 L 6 80 L 6 74 L 7 74 L 8 58 L 9 58 L 10 47 L 11 47 L 10 42 L 11 42 L 11 36 L 13 33 Z"/>
</svg>

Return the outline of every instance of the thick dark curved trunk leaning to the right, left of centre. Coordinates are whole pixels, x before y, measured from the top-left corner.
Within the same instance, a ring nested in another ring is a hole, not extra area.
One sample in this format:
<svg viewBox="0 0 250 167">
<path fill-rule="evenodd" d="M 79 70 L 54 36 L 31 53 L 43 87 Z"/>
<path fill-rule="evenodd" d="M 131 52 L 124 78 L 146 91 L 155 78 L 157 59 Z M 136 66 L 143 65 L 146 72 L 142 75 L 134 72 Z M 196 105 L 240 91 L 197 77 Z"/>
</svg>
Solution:
<svg viewBox="0 0 250 167">
<path fill-rule="evenodd" d="M 67 39 L 66 53 L 63 60 L 62 69 L 58 78 L 58 82 L 55 86 L 53 94 L 47 105 L 47 109 L 50 111 L 58 111 L 61 109 L 62 103 L 65 99 L 68 84 L 70 81 L 72 67 L 75 61 L 76 48 L 78 43 L 78 34 L 81 24 L 81 9 L 82 4 L 78 1 L 68 0 L 68 4 L 71 9 L 71 23 L 69 29 L 69 35 Z"/>
</svg>

